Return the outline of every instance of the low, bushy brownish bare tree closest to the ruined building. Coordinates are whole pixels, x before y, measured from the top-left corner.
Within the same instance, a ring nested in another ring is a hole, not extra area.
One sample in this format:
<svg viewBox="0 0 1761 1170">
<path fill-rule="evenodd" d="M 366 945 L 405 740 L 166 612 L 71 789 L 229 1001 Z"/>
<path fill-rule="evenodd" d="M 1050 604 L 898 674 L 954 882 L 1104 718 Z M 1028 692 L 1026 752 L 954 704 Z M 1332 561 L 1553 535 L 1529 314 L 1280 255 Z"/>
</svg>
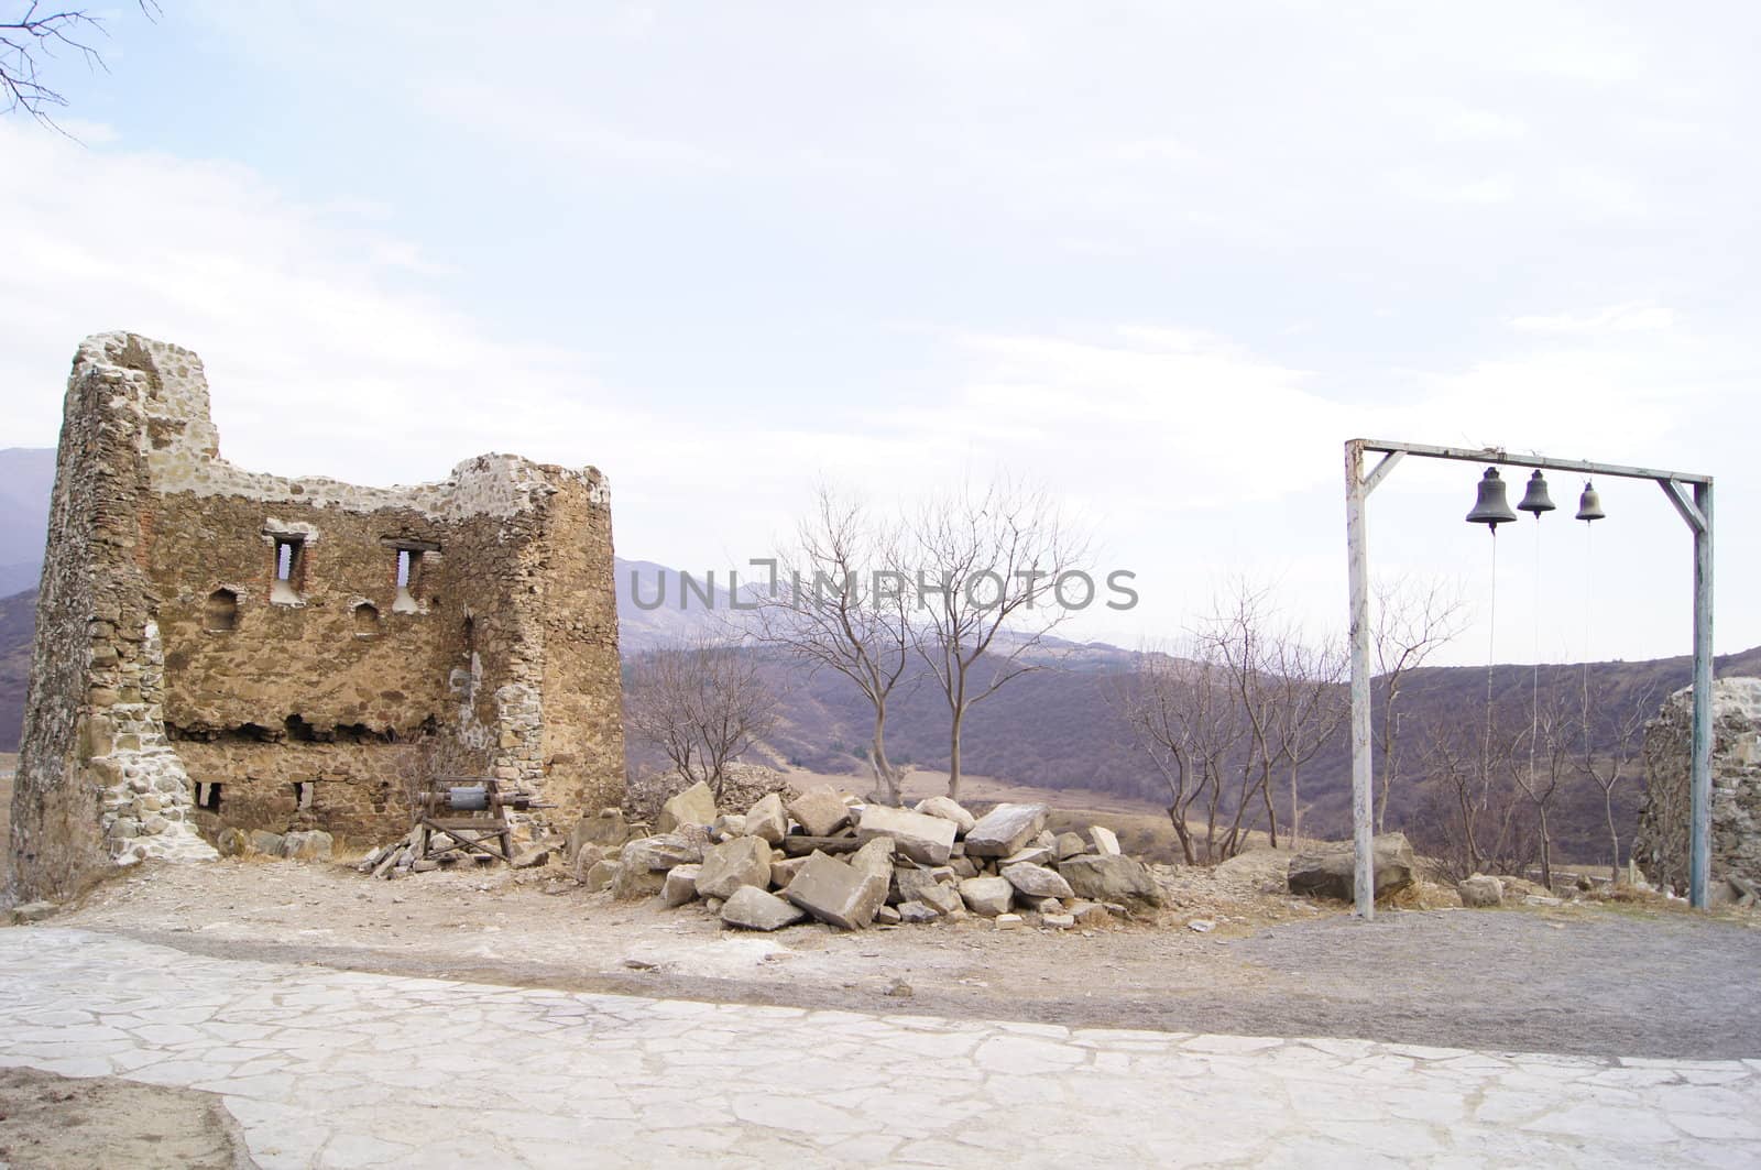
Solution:
<svg viewBox="0 0 1761 1170">
<path fill-rule="evenodd" d="M 777 724 L 777 694 L 755 654 L 699 638 L 650 650 L 623 685 L 630 735 L 659 749 L 687 782 L 722 798 L 727 765 Z"/>
</svg>

